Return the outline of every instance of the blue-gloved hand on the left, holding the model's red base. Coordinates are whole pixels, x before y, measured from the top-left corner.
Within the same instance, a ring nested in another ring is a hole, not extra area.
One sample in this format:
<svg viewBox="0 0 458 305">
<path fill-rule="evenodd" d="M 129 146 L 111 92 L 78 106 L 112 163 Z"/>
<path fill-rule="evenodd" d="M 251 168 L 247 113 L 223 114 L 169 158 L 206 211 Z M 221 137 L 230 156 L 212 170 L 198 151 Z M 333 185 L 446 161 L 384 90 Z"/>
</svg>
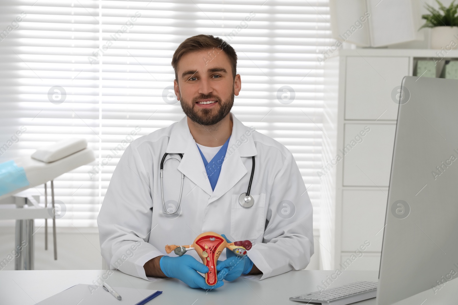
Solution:
<svg viewBox="0 0 458 305">
<path fill-rule="evenodd" d="M 224 273 L 221 276 L 218 273 L 218 281 L 215 285 L 210 286 L 205 283 L 205 278 L 197 271 L 207 273 L 208 267 L 202 262 L 198 262 L 191 255 L 185 254 L 179 257 L 163 256 L 159 260 L 159 266 L 167 277 L 178 278 L 191 288 L 215 289 L 224 285 L 223 280 L 219 280 L 220 277 L 224 277 Z"/>
</svg>

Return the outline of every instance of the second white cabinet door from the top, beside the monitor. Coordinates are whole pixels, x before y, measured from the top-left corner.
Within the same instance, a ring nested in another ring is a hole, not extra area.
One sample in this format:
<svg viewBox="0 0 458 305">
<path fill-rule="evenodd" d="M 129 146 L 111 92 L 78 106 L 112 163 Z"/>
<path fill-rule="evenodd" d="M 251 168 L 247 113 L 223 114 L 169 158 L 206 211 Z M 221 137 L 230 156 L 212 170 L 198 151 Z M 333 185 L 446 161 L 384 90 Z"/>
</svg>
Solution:
<svg viewBox="0 0 458 305">
<path fill-rule="evenodd" d="M 395 131 L 395 124 L 344 124 L 344 186 L 388 186 Z"/>
</svg>

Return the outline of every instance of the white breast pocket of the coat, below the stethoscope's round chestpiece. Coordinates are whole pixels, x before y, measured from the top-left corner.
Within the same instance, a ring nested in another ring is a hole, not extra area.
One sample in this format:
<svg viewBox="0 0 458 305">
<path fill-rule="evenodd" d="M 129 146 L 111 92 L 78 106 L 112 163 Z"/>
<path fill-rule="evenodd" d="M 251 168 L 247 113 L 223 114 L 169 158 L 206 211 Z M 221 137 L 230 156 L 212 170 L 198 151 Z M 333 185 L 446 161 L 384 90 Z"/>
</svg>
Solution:
<svg viewBox="0 0 458 305">
<path fill-rule="evenodd" d="M 234 239 L 233 241 L 256 239 L 264 232 L 266 194 L 251 194 L 255 201 L 251 208 L 242 207 L 239 203 L 239 196 L 232 195 L 230 235 Z"/>
</svg>

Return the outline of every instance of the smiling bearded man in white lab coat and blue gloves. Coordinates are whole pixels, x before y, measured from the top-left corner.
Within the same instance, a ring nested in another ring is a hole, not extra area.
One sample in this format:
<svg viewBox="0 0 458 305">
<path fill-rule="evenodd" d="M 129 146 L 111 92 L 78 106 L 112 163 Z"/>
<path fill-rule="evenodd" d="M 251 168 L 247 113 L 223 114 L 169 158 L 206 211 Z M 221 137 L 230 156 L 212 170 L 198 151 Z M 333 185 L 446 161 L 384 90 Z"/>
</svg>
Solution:
<svg viewBox="0 0 458 305">
<path fill-rule="evenodd" d="M 234 49 L 218 37 L 193 36 L 176 49 L 172 66 L 186 116 L 136 139 L 122 155 L 97 218 L 105 262 L 136 277 L 178 278 L 202 289 L 218 288 L 222 279 L 261 280 L 304 269 L 314 251 L 310 198 L 291 152 L 230 112 L 241 88 Z M 164 163 L 161 189 L 165 153 L 176 159 Z M 239 197 L 252 166 L 254 204 L 246 208 Z M 241 259 L 223 251 L 214 286 L 200 274 L 209 270 L 196 251 L 164 250 L 207 231 L 253 243 Z"/>
</svg>

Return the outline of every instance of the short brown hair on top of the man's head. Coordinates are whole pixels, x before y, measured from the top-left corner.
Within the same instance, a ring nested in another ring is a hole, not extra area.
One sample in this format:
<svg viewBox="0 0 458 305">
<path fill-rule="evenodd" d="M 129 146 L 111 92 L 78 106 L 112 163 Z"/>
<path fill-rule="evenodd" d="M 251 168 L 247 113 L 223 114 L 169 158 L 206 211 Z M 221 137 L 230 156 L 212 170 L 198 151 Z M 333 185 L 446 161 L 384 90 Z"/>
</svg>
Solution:
<svg viewBox="0 0 458 305">
<path fill-rule="evenodd" d="M 237 75 L 237 54 L 235 53 L 234 48 L 232 48 L 228 43 L 219 37 L 203 34 L 186 38 L 186 40 L 182 42 L 180 46 L 175 50 L 175 53 L 172 57 L 172 67 L 175 70 L 175 79 L 178 81 L 178 62 L 183 55 L 211 48 L 217 48 L 215 51 L 213 51 L 213 54 L 215 52 L 218 54 L 221 51 L 226 53 L 226 55 L 229 57 L 229 62 L 232 67 L 232 77 L 235 79 L 235 75 Z M 212 58 L 212 55 L 209 55 L 209 58 Z"/>
</svg>

